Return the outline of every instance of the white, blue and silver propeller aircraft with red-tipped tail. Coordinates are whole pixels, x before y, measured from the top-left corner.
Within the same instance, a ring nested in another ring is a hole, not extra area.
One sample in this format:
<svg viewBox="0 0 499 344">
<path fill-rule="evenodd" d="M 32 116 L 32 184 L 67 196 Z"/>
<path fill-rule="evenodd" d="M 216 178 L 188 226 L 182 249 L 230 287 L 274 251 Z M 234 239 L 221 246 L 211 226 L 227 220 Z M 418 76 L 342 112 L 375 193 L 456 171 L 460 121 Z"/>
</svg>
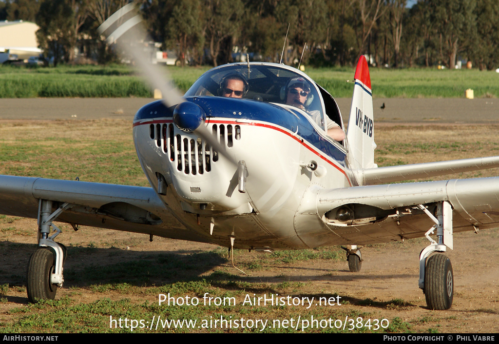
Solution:
<svg viewBox="0 0 499 344">
<path fill-rule="evenodd" d="M 235 91 L 226 83 L 231 75 L 245 81 L 233 94 L 241 97 L 223 96 Z M 286 94 L 298 79 L 306 99 L 297 104 Z M 327 135 L 331 123 L 343 129 L 333 97 L 286 65 L 222 65 L 183 97 L 165 93 L 133 120 L 151 187 L 0 176 L 0 213 L 38 219 L 29 301 L 54 298 L 63 283 L 65 248 L 54 241 L 55 220 L 268 252 L 345 245 L 352 272 L 360 270 L 362 245 L 426 236 L 419 286 L 431 309 L 452 305 L 454 275 L 444 252 L 453 248 L 453 233 L 498 226 L 497 177 L 400 182 L 498 167 L 499 157 L 377 167 L 363 56 L 340 141 Z"/>
</svg>

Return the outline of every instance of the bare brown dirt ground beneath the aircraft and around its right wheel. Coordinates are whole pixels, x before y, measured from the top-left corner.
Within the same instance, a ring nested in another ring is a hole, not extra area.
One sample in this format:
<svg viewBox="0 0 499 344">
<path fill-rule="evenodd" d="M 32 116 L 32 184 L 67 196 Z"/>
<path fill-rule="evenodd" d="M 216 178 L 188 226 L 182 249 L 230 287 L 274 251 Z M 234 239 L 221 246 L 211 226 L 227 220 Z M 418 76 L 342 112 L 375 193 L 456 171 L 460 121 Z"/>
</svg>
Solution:
<svg viewBox="0 0 499 344">
<path fill-rule="evenodd" d="M 27 306 L 24 287 L 24 273 L 27 260 L 36 248 L 33 243 L 36 223 L 30 219 L 18 219 L 10 223 L 16 233 L 0 230 L 0 280 L 8 283 L 6 301 L 0 303 L 0 322 L 15 321 L 15 314 L 9 310 Z M 65 225 L 61 225 L 64 227 Z M 86 275 L 88 269 L 116 266 L 128 261 L 152 256 L 173 254 L 199 256 L 216 249 L 213 245 L 195 242 L 155 238 L 149 242 L 143 234 L 83 227 L 74 232 L 64 227 L 60 241 L 68 247 L 65 285 L 57 291 L 57 298 L 69 296 L 73 301 L 84 303 L 97 299 L 114 300 L 126 297 L 133 302 L 155 302 L 157 295 L 94 290 L 89 286 L 112 282 L 107 277 L 92 277 L 90 281 L 73 280 L 75 275 Z M 29 235 L 28 235 L 29 234 Z M 266 284 L 274 289 L 281 283 L 300 283 L 300 295 L 331 295 L 341 297 L 341 310 L 350 313 L 371 314 L 371 317 L 401 320 L 410 324 L 410 332 L 438 331 L 443 333 L 497 333 L 499 331 L 499 232 L 482 231 L 479 234 L 467 232 L 455 235 L 455 250 L 450 256 L 455 273 L 454 304 L 450 310 L 435 311 L 426 307 L 425 296 L 418 288 L 419 252 L 427 245 L 426 239 L 405 243 L 379 244 L 364 247 L 362 269 L 351 273 L 344 260 L 313 259 L 276 266 L 261 263 L 259 253 L 237 251 L 236 264 L 248 272 L 244 275 L 221 259 L 213 266 L 194 267 L 187 273 L 196 279 L 214 271 L 240 276 L 240 281 Z M 247 263 L 259 260 L 257 269 L 246 269 Z M 246 265 L 245 265 L 246 264 Z M 185 280 L 185 271 L 172 277 L 173 271 L 150 276 L 150 283 L 162 285 Z M 178 271 L 179 272 L 179 271 Z M 173 274 L 175 275 L 175 273 Z M 116 277 L 116 276 L 115 276 Z M 118 276 L 119 278 L 119 276 Z M 123 275 L 122 280 L 128 280 Z M 188 277 L 189 278 L 189 277 Z M 147 285 L 130 282 L 146 289 Z"/>
</svg>

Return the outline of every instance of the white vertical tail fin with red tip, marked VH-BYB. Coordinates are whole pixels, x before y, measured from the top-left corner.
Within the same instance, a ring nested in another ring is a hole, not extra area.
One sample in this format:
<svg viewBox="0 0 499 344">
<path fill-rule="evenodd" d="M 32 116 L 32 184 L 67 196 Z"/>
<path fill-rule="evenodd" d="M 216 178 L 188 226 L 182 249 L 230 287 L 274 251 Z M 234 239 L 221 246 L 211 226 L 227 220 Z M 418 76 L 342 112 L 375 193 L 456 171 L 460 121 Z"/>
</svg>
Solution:
<svg viewBox="0 0 499 344">
<path fill-rule="evenodd" d="M 355 70 L 352 108 L 348 120 L 348 159 L 350 168 L 377 167 L 374 163 L 374 125 L 371 77 L 364 55 L 360 56 Z"/>
</svg>

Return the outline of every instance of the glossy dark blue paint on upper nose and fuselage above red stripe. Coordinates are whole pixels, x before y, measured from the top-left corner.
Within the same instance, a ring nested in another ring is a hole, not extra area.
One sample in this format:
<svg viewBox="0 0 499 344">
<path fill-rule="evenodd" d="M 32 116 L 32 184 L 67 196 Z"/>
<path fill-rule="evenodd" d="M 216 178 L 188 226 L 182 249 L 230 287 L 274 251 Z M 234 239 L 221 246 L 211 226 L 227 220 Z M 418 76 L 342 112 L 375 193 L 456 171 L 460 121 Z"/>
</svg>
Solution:
<svg viewBox="0 0 499 344">
<path fill-rule="evenodd" d="M 199 96 L 186 97 L 186 100 L 201 106 L 206 112 L 207 119 L 209 117 L 248 119 L 275 124 L 292 132 L 298 129 L 297 136 L 345 166 L 345 152 L 324 138 L 322 135 L 325 133 L 321 132 L 321 135 L 299 110 L 287 110 L 278 105 L 250 99 Z M 134 122 L 163 116 L 172 117 L 172 115 L 173 109 L 167 108 L 161 100 L 158 100 L 140 108 Z"/>
</svg>

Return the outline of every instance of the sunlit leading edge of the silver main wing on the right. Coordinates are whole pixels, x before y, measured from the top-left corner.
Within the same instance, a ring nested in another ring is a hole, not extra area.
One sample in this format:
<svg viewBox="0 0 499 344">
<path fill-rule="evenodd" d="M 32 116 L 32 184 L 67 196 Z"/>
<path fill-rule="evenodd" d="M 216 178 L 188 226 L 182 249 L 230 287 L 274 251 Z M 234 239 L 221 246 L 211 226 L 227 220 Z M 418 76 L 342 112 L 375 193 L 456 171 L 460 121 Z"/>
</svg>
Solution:
<svg viewBox="0 0 499 344">
<path fill-rule="evenodd" d="M 444 200 L 467 222 L 469 230 L 499 223 L 499 177 L 324 189 L 318 192 L 317 210 L 319 216 L 341 225 L 342 211 L 338 209 L 343 207 L 351 212 L 359 209 L 359 214 L 350 214 L 348 220 L 343 217 L 344 223 L 358 225 L 363 223 L 362 219 L 366 224 L 373 223 L 376 218 L 404 211 L 404 207 Z M 423 232 L 427 229 L 421 228 Z"/>
</svg>

